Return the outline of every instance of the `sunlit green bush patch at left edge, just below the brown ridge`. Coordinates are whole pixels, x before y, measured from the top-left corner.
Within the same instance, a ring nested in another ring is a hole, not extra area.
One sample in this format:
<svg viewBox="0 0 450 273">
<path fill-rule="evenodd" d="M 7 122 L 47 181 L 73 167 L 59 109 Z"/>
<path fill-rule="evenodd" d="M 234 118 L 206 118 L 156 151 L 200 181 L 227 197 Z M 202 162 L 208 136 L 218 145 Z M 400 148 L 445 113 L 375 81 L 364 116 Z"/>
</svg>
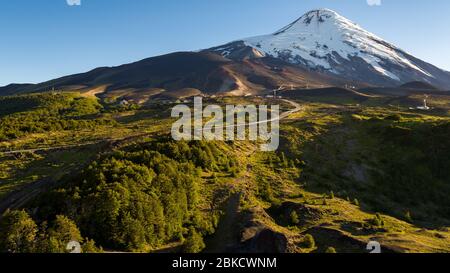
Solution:
<svg viewBox="0 0 450 273">
<path fill-rule="evenodd" d="M 97 114 L 102 105 L 76 94 L 32 94 L 0 98 L 0 141 L 28 133 L 95 128 L 113 124 Z"/>
</svg>

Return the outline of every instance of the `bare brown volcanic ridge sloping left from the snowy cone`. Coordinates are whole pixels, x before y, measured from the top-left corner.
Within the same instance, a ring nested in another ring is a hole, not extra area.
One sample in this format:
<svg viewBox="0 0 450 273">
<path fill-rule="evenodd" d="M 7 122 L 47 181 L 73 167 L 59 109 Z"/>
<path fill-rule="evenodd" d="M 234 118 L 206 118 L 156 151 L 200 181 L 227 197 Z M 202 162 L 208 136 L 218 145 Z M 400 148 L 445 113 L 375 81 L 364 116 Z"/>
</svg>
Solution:
<svg viewBox="0 0 450 273">
<path fill-rule="evenodd" d="M 9 85 L 0 95 L 55 90 L 140 100 L 186 88 L 206 94 L 258 94 L 279 86 L 332 86 L 340 80 L 272 58 L 232 61 L 213 53 L 178 52 L 117 67 L 101 67 L 40 84 Z M 99 88 L 104 92 L 92 92 Z"/>
</svg>

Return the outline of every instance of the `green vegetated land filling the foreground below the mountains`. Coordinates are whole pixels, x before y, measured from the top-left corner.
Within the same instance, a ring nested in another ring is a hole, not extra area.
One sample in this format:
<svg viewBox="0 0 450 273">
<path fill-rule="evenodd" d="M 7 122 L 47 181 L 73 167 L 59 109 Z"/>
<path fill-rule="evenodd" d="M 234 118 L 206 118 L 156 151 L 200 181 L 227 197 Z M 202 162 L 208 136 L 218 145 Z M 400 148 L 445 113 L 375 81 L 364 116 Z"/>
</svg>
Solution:
<svg viewBox="0 0 450 273">
<path fill-rule="evenodd" d="M 36 193 L 4 211 L 0 252 L 70 252 L 77 241 L 83 252 L 197 253 L 247 247 L 239 236 L 253 233 L 248 245 L 281 252 L 366 252 L 371 240 L 388 252 L 450 251 L 446 109 L 301 99 L 280 149 L 263 153 L 245 141 L 172 141 L 164 105 L 0 98 L 0 205 Z"/>
</svg>

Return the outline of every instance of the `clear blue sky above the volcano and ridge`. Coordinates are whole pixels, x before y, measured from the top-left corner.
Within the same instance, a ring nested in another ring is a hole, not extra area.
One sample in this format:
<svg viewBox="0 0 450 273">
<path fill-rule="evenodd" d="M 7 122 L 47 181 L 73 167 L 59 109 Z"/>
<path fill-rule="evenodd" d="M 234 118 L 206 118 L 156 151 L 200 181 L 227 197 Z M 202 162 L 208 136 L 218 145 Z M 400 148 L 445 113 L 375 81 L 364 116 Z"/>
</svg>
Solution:
<svg viewBox="0 0 450 273">
<path fill-rule="evenodd" d="M 4 0 L 0 86 L 208 48 L 271 33 L 331 8 L 413 55 L 450 70 L 450 1 Z"/>
</svg>

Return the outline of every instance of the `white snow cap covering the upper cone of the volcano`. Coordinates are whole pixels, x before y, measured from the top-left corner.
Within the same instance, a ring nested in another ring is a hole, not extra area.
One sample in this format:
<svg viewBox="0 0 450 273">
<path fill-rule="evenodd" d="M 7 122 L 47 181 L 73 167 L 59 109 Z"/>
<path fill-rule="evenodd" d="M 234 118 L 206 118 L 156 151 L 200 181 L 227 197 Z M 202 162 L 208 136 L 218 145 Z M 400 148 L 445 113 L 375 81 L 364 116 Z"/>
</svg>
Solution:
<svg viewBox="0 0 450 273">
<path fill-rule="evenodd" d="M 340 58 L 360 57 L 378 72 L 395 80 L 399 80 L 398 77 L 382 66 L 386 59 L 431 76 L 394 46 L 328 9 L 308 12 L 272 35 L 246 39 L 245 42 L 269 55 L 287 57 L 290 62 L 324 68 L 336 74 L 339 70 L 334 71 L 333 67 L 340 64 Z"/>
</svg>

